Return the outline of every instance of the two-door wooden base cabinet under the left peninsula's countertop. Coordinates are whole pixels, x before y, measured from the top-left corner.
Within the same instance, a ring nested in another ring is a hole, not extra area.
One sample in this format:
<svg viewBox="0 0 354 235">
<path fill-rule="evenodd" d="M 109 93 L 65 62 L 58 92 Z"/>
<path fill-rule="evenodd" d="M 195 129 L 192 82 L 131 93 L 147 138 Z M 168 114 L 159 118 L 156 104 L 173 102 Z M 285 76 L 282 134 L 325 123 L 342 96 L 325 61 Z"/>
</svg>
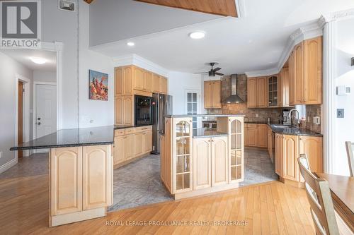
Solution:
<svg viewBox="0 0 354 235">
<path fill-rule="evenodd" d="M 50 227 L 105 216 L 113 203 L 111 145 L 50 150 Z"/>
</svg>

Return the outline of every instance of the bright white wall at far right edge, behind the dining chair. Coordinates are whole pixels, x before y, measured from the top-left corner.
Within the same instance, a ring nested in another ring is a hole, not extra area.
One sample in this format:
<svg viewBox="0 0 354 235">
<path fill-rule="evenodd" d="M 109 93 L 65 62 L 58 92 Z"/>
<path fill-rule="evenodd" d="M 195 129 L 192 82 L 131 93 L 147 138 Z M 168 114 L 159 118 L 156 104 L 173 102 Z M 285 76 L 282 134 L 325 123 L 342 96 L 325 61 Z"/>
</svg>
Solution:
<svg viewBox="0 0 354 235">
<path fill-rule="evenodd" d="M 354 66 L 350 59 L 354 57 L 354 18 L 337 22 L 336 37 L 336 85 L 350 87 L 350 94 L 336 96 L 336 109 L 344 109 L 344 118 L 335 119 L 336 156 L 334 156 L 333 174 L 349 175 L 345 141 L 354 142 Z"/>
</svg>

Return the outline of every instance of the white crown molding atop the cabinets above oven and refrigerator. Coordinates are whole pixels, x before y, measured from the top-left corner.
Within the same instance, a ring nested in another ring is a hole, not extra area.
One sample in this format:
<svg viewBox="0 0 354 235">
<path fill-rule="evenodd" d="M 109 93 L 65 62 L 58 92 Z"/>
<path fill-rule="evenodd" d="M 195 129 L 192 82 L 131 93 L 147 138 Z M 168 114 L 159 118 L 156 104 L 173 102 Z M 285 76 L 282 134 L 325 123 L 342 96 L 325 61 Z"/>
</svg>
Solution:
<svg viewBox="0 0 354 235">
<path fill-rule="evenodd" d="M 124 56 L 113 57 L 112 61 L 113 66 L 115 67 L 135 65 L 166 77 L 169 77 L 171 72 L 168 69 L 159 66 L 158 64 L 155 64 L 154 62 L 149 61 L 148 59 L 145 59 L 137 54 L 127 54 Z"/>
</svg>

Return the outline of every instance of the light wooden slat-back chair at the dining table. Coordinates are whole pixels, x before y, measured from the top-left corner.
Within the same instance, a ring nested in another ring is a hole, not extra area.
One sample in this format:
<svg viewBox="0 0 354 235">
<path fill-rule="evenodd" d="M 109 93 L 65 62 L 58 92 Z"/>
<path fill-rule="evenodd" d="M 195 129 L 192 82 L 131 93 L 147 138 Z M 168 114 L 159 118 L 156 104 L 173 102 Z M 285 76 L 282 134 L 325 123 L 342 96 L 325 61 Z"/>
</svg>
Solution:
<svg viewBox="0 0 354 235">
<path fill-rule="evenodd" d="M 314 220 L 316 234 L 339 234 L 336 215 L 334 214 L 329 182 L 317 178 L 309 170 L 306 155 L 300 155 L 297 159 L 302 177 L 305 180 L 305 190 L 311 207 L 311 215 Z"/>
</svg>

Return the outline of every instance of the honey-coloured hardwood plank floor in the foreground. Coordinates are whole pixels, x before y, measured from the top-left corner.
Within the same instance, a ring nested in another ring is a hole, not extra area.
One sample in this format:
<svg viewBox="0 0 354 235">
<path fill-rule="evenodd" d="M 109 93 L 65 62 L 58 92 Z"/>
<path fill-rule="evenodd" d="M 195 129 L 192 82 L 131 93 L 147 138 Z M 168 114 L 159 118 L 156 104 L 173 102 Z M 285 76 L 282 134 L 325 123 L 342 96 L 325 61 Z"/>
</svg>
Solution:
<svg viewBox="0 0 354 235">
<path fill-rule="evenodd" d="M 48 176 L 0 180 L 1 234 L 314 234 L 303 189 L 278 181 L 199 198 L 109 212 L 107 217 L 48 228 Z M 130 226 L 133 222 L 246 221 L 246 226 Z M 114 225 L 123 223 L 124 226 Z M 106 225 L 106 223 L 112 223 Z M 127 224 L 126 224 L 127 223 Z"/>
</svg>

